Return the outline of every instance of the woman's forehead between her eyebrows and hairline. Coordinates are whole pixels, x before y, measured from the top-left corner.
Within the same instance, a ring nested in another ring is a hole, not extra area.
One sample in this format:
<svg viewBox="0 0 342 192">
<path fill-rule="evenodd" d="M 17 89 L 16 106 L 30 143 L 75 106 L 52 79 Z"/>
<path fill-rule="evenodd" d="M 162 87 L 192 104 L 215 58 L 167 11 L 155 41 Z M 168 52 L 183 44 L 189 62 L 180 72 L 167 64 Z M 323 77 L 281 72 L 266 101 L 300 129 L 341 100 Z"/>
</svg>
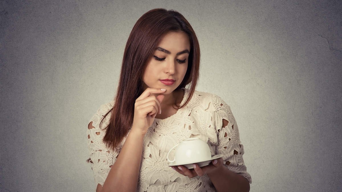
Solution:
<svg viewBox="0 0 342 192">
<path fill-rule="evenodd" d="M 189 36 L 181 32 L 168 32 L 159 42 L 158 47 L 166 49 L 172 53 L 184 50 L 190 51 Z"/>
</svg>

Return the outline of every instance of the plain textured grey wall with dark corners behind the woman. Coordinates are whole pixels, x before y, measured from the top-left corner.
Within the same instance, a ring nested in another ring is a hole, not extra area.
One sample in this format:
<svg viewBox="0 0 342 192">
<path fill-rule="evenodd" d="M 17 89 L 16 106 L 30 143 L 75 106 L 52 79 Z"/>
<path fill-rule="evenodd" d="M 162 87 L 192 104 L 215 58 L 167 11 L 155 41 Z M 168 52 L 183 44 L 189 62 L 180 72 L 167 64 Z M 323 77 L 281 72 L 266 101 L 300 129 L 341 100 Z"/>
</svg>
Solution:
<svg viewBox="0 0 342 192">
<path fill-rule="evenodd" d="M 341 1 L 1 0 L 0 191 L 94 191 L 86 129 L 114 98 L 136 20 L 174 9 L 198 91 L 231 106 L 252 192 L 342 188 Z"/>
</svg>

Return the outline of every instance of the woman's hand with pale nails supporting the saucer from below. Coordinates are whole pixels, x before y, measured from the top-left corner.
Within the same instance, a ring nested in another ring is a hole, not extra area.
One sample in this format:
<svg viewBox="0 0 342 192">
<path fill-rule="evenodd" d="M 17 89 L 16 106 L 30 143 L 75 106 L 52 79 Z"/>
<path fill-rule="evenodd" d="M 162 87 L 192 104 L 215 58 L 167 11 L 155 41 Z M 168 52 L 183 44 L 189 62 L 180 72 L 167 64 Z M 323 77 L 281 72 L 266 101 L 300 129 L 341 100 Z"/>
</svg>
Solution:
<svg viewBox="0 0 342 192">
<path fill-rule="evenodd" d="M 204 166 L 204 167 L 199 167 L 197 163 L 194 163 L 193 169 L 188 169 L 183 165 L 172 166 L 172 168 L 176 170 L 178 173 L 184 176 L 187 176 L 189 178 L 202 176 L 205 174 L 215 174 L 215 172 L 221 169 L 222 167 L 224 167 L 222 157 L 219 159 L 213 160 L 209 165 Z"/>
</svg>

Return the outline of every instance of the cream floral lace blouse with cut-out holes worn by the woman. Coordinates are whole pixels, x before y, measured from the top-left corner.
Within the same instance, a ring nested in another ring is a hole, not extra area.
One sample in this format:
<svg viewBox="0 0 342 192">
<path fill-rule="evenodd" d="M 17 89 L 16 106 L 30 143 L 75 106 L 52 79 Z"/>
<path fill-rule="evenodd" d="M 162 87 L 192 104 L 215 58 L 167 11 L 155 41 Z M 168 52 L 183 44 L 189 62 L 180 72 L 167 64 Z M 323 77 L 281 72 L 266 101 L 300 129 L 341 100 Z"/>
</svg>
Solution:
<svg viewBox="0 0 342 192">
<path fill-rule="evenodd" d="M 185 102 L 189 90 L 184 90 Z M 95 185 L 103 185 L 111 165 L 115 163 L 124 140 L 114 151 L 106 148 L 102 139 L 109 122 L 107 116 L 100 128 L 100 122 L 114 102 L 104 104 L 91 118 L 95 128 L 87 130 L 88 148 Z M 222 127 L 223 119 L 229 123 Z M 199 137 L 209 144 L 211 154 L 223 154 L 224 165 L 231 171 L 244 176 L 252 183 L 247 173 L 242 155 L 244 147 L 239 139 L 239 131 L 230 107 L 217 95 L 195 92 L 190 102 L 166 119 L 155 119 L 148 129 L 143 146 L 141 168 L 137 190 L 139 192 L 185 192 L 215 191 L 208 175 L 188 178 L 166 166 L 169 150 L 190 137 Z M 173 159 L 170 153 L 170 159 Z M 96 187 L 95 187 L 96 189 Z"/>
</svg>

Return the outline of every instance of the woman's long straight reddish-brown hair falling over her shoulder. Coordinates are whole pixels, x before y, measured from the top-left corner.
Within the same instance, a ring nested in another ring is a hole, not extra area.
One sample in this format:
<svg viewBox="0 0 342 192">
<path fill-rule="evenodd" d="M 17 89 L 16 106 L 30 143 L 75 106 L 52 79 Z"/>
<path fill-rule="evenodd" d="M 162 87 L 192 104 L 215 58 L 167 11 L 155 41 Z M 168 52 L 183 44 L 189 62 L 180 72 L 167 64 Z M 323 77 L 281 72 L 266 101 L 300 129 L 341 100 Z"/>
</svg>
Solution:
<svg viewBox="0 0 342 192">
<path fill-rule="evenodd" d="M 143 72 L 149 58 L 157 48 L 159 41 L 168 32 L 185 32 L 190 39 L 188 68 L 182 83 L 177 89 L 191 83 L 187 100 L 178 109 L 184 107 L 192 98 L 199 76 L 200 51 L 195 32 L 182 14 L 173 10 L 153 9 L 141 16 L 135 23 L 127 40 L 123 54 L 120 80 L 106 134 L 103 138 L 108 148 L 114 149 L 127 135 L 134 117 L 134 103 L 143 87 Z M 102 119 L 102 121 L 103 121 Z M 101 123 L 102 123 L 101 121 Z"/>
</svg>

